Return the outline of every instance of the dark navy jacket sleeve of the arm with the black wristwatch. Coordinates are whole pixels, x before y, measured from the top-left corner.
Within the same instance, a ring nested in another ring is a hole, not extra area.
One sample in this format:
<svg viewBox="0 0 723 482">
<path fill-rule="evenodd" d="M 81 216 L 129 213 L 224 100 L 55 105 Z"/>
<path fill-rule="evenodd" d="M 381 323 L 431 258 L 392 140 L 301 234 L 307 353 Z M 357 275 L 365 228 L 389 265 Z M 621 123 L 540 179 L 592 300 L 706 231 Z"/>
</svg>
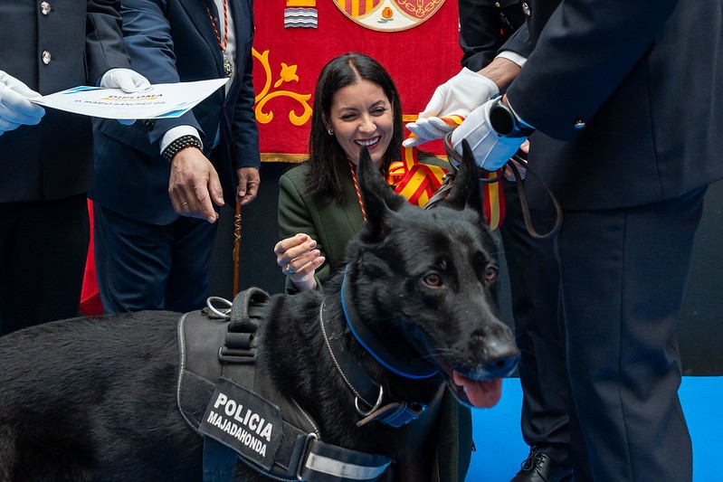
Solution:
<svg viewBox="0 0 723 482">
<path fill-rule="evenodd" d="M 562 0 L 548 14 L 533 11 L 537 42 L 507 91 L 510 104 L 548 136 L 575 138 L 576 123 L 586 123 L 643 60 L 678 3 Z"/>
</svg>

